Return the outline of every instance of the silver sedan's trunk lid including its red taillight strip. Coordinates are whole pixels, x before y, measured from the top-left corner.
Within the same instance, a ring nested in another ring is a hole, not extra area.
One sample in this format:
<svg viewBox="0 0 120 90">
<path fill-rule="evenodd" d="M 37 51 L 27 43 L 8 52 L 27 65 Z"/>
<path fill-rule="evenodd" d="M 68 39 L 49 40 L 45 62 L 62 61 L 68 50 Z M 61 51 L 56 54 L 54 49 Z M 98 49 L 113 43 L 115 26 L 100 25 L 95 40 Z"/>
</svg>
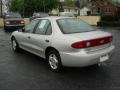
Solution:
<svg viewBox="0 0 120 90">
<path fill-rule="evenodd" d="M 76 41 L 71 45 L 73 48 L 84 48 L 87 51 L 103 49 L 109 46 L 108 44 L 112 41 L 112 35 L 103 31 L 83 32 L 69 34 L 68 36 L 76 38 Z"/>
</svg>

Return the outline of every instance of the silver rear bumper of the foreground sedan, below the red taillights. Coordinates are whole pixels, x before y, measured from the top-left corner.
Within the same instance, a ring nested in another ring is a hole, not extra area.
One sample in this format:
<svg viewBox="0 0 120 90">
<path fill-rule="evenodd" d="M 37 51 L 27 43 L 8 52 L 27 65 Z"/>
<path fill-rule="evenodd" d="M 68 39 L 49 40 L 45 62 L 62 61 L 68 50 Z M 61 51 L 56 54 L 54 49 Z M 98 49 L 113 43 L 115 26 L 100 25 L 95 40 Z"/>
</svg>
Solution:
<svg viewBox="0 0 120 90">
<path fill-rule="evenodd" d="M 89 54 L 85 52 L 77 52 L 77 53 L 61 52 L 60 55 L 61 55 L 62 65 L 70 66 L 70 67 L 84 67 L 84 66 L 98 64 L 102 62 L 100 61 L 100 57 L 102 55 L 108 54 L 110 58 L 114 48 L 115 48 L 114 46 L 111 46 L 109 48 L 95 51 Z"/>
</svg>

